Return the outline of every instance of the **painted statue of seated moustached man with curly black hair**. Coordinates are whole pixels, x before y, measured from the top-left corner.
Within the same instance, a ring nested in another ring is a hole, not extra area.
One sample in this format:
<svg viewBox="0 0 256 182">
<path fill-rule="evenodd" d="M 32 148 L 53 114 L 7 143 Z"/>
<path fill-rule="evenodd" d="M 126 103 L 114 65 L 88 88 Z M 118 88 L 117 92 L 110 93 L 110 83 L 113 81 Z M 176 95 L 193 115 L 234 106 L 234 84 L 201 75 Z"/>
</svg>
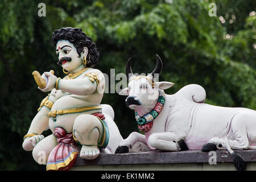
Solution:
<svg viewBox="0 0 256 182">
<path fill-rule="evenodd" d="M 93 68 L 100 58 L 96 43 L 81 28 L 60 28 L 51 40 L 59 57 L 57 64 L 67 76 L 42 75 L 46 86 L 39 85 L 39 89 L 51 93 L 41 102 L 22 146 L 33 150 L 38 163 L 44 152 L 47 170 L 65 170 L 72 167 L 79 152 L 82 159 L 95 159 L 100 148 L 108 145 L 109 128 L 100 105 L 105 78 Z M 40 74 L 34 77 L 42 80 Z M 52 134 L 44 138 L 41 134 L 48 127 Z"/>
</svg>

